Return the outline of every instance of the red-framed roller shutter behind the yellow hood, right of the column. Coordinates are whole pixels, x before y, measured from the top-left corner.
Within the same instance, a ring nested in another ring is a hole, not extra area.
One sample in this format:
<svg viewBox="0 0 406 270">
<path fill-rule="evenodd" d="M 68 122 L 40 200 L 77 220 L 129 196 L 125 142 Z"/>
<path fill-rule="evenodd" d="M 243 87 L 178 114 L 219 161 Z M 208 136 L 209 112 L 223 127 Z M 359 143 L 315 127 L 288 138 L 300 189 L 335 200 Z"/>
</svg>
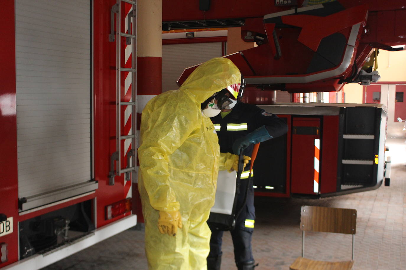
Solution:
<svg viewBox="0 0 406 270">
<path fill-rule="evenodd" d="M 221 57 L 221 42 L 162 46 L 162 92 L 178 89 L 176 81 L 185 68 Z"/>
</svg>

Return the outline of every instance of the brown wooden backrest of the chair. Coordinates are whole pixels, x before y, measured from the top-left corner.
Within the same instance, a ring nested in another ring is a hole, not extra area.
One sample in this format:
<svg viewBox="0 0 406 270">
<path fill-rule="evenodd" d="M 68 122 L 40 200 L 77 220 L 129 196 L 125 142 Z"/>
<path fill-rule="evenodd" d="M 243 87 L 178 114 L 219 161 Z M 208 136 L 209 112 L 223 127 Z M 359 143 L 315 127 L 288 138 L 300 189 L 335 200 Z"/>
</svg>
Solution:
<svg viewBox="0 0 406 270">
<path fill-rule="evenodd" d="M 300 230 L 356 233 L 356 210 L 304 205 L 300 209 Z"/>
</svg>

